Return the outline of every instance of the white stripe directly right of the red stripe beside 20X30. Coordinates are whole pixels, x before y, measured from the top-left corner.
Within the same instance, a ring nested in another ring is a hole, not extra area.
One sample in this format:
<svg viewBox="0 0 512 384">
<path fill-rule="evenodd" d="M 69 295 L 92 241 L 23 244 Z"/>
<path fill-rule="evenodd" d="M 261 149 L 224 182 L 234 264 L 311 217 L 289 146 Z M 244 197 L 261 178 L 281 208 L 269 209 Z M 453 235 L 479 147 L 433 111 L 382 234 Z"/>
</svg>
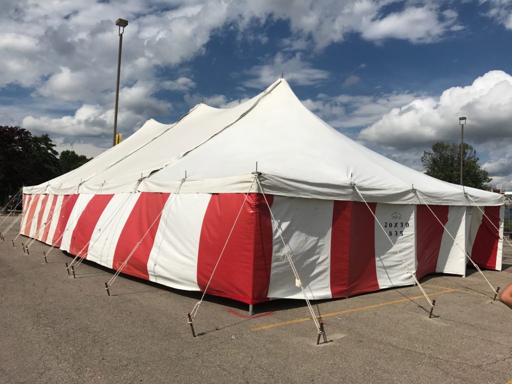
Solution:
<svg viewBox="0 0 512 384">
<path fill-rule="evenodd" d="M 467 238 L 466 210 L 467 207 L 465 206 L 450 206 L 448 208 L 448 221 L 444 226 L 455 238 L 455 241 L 446 230 L 443 230 L 436 272 L 460 274 L 462 276 L 466 274 L 467 258 L 464 253 Z"/>
</svg>

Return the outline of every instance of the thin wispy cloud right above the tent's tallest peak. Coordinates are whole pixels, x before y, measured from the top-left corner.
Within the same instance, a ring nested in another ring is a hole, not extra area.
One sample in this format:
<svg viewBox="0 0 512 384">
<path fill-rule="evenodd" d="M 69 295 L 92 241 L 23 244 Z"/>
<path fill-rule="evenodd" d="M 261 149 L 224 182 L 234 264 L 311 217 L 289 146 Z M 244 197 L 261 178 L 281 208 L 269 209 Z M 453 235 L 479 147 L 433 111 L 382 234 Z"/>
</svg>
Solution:
<svg viewBox="0 0 512 384">
<path fill-rule="evenodd" d="M 298 86 L 311 86 L 329 77 L 329 72 L 311 68 L 311 64 L 302 59 L 301 53 L 294 56 L 278 53 L 265 65 L 254 66 L 246 71 L 249 79 L 243 84 L 250 88 L 264 89 L 280 78 L 281 74 L 287 81 Z"/>
</svg>

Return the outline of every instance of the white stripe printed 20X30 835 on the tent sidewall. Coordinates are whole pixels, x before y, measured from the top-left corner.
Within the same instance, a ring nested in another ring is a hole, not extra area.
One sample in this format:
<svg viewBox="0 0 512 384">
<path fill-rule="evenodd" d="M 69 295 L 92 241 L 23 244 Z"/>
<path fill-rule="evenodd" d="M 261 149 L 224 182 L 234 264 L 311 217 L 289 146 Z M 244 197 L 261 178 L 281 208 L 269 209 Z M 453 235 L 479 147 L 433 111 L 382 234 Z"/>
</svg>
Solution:
<svg viewBox="0 0 512 384">
<path fill-rule="evenodd" d="M 377 204 L 375 216 L 386 230 L 375 221 L 375 266 L 381 289 L 415 283 L 407 272 L 408 266 L 413 272 L 417 266 L 415 211 L 416 205 Z"/>
</svg>

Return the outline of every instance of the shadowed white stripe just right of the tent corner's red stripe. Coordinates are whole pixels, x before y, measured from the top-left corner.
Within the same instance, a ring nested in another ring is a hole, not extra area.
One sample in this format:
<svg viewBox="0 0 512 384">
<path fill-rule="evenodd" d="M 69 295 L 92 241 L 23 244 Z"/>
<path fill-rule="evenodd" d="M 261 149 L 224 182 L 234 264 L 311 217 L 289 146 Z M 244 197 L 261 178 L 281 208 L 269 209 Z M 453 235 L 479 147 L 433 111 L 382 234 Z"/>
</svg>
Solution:
<svg viewBox="0 0 512 384">
<path fill-rule="evenodd" d="M 333 201 L 274 196 L 271 206 L 292 260 L 310 299 L 331 297 L 330 258 Z M 273 252 L 268 297 L 304 298 L 288 261 L 276 223 L 273 228 Z"/>
</svg>

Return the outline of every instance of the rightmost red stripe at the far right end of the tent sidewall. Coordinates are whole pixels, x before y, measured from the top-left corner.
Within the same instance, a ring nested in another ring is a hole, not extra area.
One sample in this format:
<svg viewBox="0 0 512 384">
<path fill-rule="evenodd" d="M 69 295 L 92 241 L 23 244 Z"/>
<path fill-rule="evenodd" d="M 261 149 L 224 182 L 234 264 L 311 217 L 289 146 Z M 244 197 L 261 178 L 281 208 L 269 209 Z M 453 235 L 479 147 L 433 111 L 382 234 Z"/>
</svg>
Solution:
<svg viewBox="0 0 512 384">
<path fill-rule="evenodd" d="M 483 268 L 496 269 L 500 240 L 500 233 L 496 228 L 500 228 L 500 209 L 499 205 L 485 207 L 484 212 L 488 219 L 485 216 L 482 217 L 482 223 L 478 227 L 475 243 L 471 250 L 471 259 Z"/>
</svg>

